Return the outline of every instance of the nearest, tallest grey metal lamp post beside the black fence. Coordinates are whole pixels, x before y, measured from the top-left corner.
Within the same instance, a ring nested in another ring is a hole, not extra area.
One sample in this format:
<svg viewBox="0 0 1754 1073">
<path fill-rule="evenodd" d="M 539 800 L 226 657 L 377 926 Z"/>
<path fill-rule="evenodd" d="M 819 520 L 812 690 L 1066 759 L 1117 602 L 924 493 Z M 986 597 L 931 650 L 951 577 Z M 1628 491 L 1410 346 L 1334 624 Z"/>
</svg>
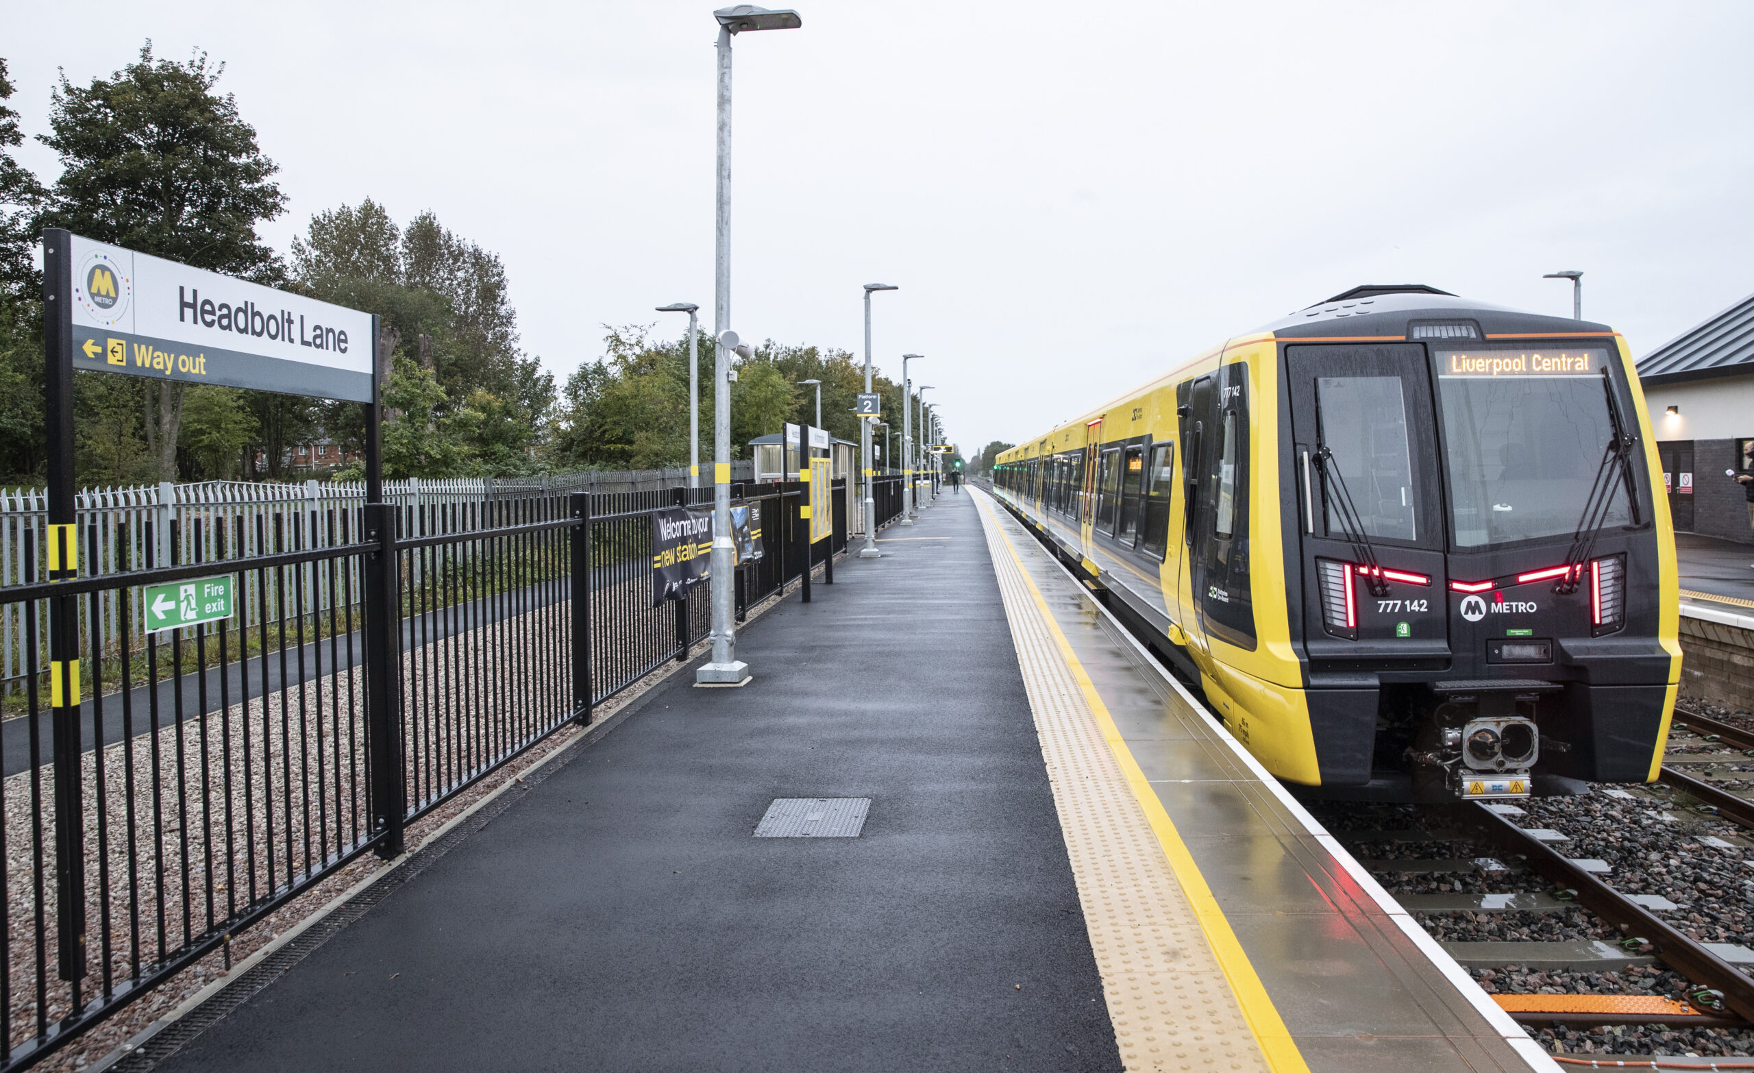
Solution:
<svg viewBox="0 0 1754 1073">
<path fill-rule="evenodd" d="M 738 686 L 749 664 L 737 659 L 735 570 L 731 545 L 731 351 L 742 342 L 731 331 L 731 35 L 752 30 L 796 30 L 795 11 L 768 11 L 752 4 L 721 7 L 719 116 L 714 167 L 716 214 L 712 230 L 712 657 L 695 672 L 702 686 Z"/>
</svg>

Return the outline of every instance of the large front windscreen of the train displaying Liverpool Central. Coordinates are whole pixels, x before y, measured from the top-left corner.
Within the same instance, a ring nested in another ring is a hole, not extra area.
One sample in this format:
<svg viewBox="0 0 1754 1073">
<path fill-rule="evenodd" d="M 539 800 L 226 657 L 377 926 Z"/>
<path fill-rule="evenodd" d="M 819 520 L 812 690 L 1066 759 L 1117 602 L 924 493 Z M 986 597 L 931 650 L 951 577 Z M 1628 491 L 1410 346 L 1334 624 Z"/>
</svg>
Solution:
<svg viewBox="0 0 1754 1073">
<path fill-rule="evenodd" d="M 1614 438 L 1608 351 L 1438 349 L 1433 365 L 1456 547 L 1570 538 Z M 1629 519 L 1626 486 L 1614 480 L 1601 524 Z"/>
</svg>

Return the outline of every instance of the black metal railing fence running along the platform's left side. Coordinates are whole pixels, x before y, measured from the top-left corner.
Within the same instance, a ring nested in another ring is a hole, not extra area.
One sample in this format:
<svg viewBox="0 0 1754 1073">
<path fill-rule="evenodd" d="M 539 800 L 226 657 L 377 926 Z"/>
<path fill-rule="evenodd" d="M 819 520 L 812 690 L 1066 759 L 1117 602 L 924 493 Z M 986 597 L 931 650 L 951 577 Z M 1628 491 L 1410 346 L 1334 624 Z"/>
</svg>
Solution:
<svg viewBox="0 0 1754 1073">
<path fill-rule="evenodd" d="M 802 484 L 733 486 L 759 503 L 765 556 L 738 565 L 737 614 L 796 580 Z M 877 477 L 875 524 L 900 512 Z M 847 487 L 833 536 L 847 545 Z M 651 603 L 651 515 L 712 489 L 479 501 L 316 503 L 249 517 L 186 508 L 144 533 L 79 529 L 181 561 L 0 587 L 18 607 L 23 689 L 0 722 L 0 1073 L 25 1068 L 709 631 L 709 586 Z M 168 538 L 165 538 L 168 536 Z M 32 535 L 26 535 L 32 538 Z M 177 549 L 193 549 L 177 551 Z M 232 619 L 144 633 L 146 584 L 230 575 Z M 77 724 L 56 722 L 40 631 L 79 608 Z"/>
</svg>

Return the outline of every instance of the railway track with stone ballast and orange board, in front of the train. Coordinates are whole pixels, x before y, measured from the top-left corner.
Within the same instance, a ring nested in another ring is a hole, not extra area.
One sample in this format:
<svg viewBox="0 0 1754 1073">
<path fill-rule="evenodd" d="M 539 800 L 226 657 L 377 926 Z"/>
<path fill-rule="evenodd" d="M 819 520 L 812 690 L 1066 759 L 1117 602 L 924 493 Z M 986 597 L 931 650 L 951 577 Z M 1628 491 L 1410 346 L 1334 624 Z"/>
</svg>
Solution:
<svg viewBox="0 0 1754 1073">
<path fill-rule="evenodd" d="M 1323 817 L 1330 829 L 1354 845 L 1363 864 L 1438 940 L 1456 940 L 1458 931 L 1472 938 L 1482 920 L 1503 919 L 1501 913 L 1517 913 L 1522 920 L 1540 917 L 1522 926 L 1493 924 L 1493 934 L 1575 936 L 1587 931 L 1594 936 L 1565 943 L 1540 938 L 1445 943 L 1477 978 L 1500 992 L 1494 999 L 1507 1013 L 1544 1045 L 1559 1041 L 1563 1057 L 1608 1064 L 1636 1059 L 1628 1064 L 1643 1066 L 1652 1061 L 1651 1050 L 1656 1055 L 1668 1050 L 1736 1061 L 1754 1054 L 1754 978 L 1736 964 L 1754 968 L 1745 961 L 1754 950 L 1708 938 L 1712 924 L 1733 912 L 1738 920 L 1729 938 L 1754 945 L 1754 920 L 1749 919 L 1754 913 L 1743 912 L 1754 908 L 1754 864 L 1742 863 L 1754 861 L 1754 835 L 1740 838 L 1736 829 L 1722 826 L 1754 829 L 1754 803 L 1684 768 L 1747 768 L 1745 777 L 1754 780 L 1754 731 L 1677 710 L 1668 759 L 1675 759 L 1677 750 L 1682 763 L 1665 763 L 1656 787 L 1596 787 L 1584 798 L 1544 798 L 1526 803 L 1528 808 L 1324 803 L 1321 810 L 1330 814 Z M 1742 750 L 1749 750 L 1747 756 Z M 1736 777 L 1733 770 L 1724 773 Z M 1589 819 L 1584 814 L 1591 814 Z M 1573 817 L 1577 822 L 1570 824 Z M 1365 828 L 1342 829 L 1359 819 L 1366 819 Z M 1572 836 L 1538 826 L 1544 822 L 1572 828 L 1584 845 L 1598 845 L 1603 829 L 1621 831 L 1621 852 L 1601 850 L 1614 864 L 1566 856 L 1561 847 Z M 1726 868 L 1743 871 L 1750 882 L 1728 882 Z M 1652 875 L 1661 878 L 1652 880 Z M 1665 889 L 1675 898 L 1640 892 L 1651 889 Z M 1696 899 L 1708 901 L 1715 913 L 1712 920 L 1700 922 L 1693 912 L 1698 906 L 1684 892 L 1694 889 L 1700 891 Z M 1452 924 L 1458 917 L 1459 927 Z M 1586 964 L 1556 968 L 1552 950 L 1559 947 L 1587 950 L 1598 961 L 1586 957 Z M 1528 956 L 1519 957 L 1524 949 Z M 1494 956 L 1503 956 L 1503 963 L 1489 968 L 1482 959 Z M 1528 964 L 1535 968 L 1512 968 Z M 1522 989 L 1517 980 L 1524 982 Z M 1577 1050 L 1575 1045 L 1586 1040 L 1594 1048 Z M 1754 1061 L 1747 1068 L 1754 1069 Z"/>
</svg>

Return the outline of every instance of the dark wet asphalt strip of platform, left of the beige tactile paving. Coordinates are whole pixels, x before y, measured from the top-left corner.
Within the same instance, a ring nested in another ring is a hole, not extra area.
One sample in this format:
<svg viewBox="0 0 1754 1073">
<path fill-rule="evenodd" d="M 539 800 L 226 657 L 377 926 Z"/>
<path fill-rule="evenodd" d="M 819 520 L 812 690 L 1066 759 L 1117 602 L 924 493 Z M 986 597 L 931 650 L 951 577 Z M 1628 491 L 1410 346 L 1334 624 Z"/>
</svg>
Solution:
<svg viewBox="0 0 1754 1073">
<path fill-rule="evenodd" d="M 156 1068 L 1119 1069 L 972 498 L 879 547 Z"/>
</svg>

